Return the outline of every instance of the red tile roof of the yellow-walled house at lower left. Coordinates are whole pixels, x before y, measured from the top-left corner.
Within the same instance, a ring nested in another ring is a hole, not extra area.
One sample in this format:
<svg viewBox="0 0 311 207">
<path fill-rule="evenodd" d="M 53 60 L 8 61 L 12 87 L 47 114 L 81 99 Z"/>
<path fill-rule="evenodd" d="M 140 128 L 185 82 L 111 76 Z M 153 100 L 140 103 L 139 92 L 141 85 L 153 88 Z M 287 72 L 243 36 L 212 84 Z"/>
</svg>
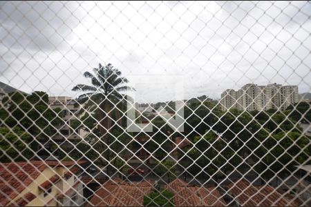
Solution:
<svg viewBox="0 0 311 207">
<path fill-rule="evenodd" d="M 84 162 L 77 162 L 83 164 Z M 48 166 L 73 166 L 75 161 L 20 161 L 0 164 L 0 206 L 17 197 Z"/>
</svg>

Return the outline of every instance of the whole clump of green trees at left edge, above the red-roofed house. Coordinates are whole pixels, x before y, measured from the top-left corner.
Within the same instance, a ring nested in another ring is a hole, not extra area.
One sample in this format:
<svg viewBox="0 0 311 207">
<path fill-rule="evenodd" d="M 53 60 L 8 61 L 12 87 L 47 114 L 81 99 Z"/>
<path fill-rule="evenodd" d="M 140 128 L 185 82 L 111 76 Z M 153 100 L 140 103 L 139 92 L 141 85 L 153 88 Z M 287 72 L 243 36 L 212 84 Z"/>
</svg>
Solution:
<svg viewBox="0 0 311 207">
<path fill-rule="evenodd" d="M 62 124 L 59 112 L 59 108 L 53 110 L 48 105 L 46 92 L 35 91 L 28 95 L 17 91 L 3 97 L 0 108 L 1 148 L 7 149 L 7 155 L 1 161 L 9 161 L 8 157 L 12 158 L 11 161 L 21 160 L 19 151 L 26 158 L 34 158 L 31 150 L 38 154 L 39 142 L 47 143 L 55 126 Z M 8 147 L 10 143 L 12 147 Z"/>
</svg>

